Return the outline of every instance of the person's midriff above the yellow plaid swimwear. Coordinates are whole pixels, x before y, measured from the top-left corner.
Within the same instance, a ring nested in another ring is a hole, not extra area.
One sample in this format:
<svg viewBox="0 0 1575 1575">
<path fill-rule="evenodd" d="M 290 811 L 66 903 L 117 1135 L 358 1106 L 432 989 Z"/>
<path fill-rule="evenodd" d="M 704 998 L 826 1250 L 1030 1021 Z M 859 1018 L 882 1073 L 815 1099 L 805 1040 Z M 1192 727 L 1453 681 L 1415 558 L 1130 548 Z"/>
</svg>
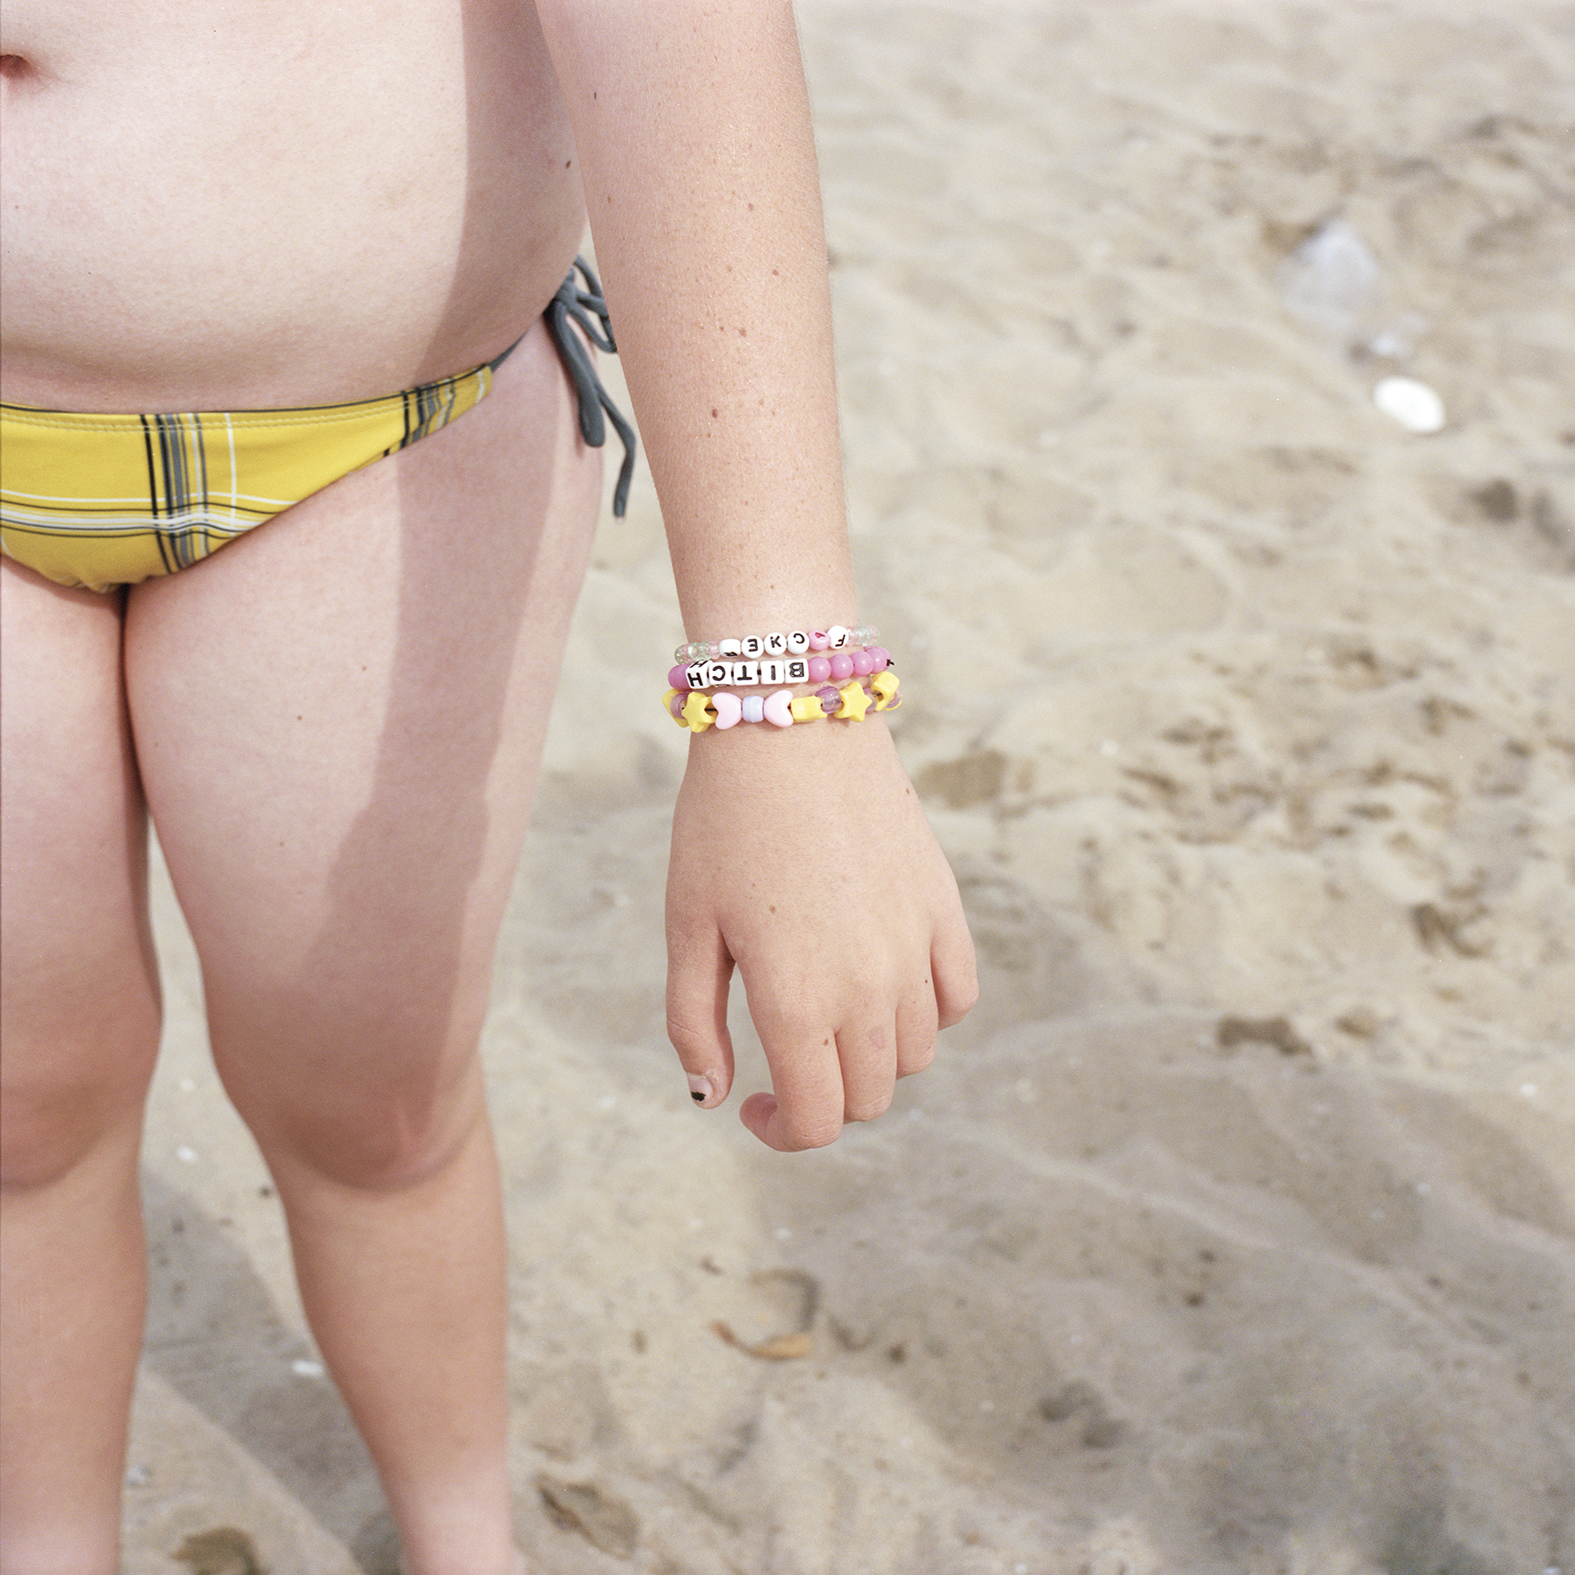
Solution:
<svg viewBox="0 0 1575 1575">
<path fill-rule="evenodd" d="M 580 243 L 518 0 L 6 0 L 0 43 L 6 400 L 389 394 L 501 351 Z"/>
</svg>

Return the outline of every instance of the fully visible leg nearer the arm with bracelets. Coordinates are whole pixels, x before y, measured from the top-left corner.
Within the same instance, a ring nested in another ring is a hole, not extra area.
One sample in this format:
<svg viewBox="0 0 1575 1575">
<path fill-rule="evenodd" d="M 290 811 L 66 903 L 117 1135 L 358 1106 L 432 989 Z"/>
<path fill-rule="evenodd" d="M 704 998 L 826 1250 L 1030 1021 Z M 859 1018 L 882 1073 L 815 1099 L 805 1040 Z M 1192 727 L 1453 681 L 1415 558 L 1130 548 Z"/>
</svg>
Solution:
<svg viewBox="0 0 1575 1575">
<path fill-rule="evenodd" d="M 476 1040 L 598 476 L 537 324 L 463 421 L 128 613 L 214 1057 L 416 1575 L 512 1559 Z"/>
</svg>

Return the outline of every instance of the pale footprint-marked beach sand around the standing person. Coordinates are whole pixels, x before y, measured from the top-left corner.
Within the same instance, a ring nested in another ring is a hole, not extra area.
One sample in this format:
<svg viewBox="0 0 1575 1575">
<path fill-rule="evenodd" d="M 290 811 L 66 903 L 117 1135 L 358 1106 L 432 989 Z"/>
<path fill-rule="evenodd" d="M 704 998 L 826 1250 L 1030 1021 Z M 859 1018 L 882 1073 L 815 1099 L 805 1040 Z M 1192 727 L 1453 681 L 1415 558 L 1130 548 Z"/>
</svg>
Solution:
<svg viewBox="0 0 1575 1575">
<path fill-rule="evenodd" d="M 487 1028 L 534 1567 L 1575 1570 L 1575 9 L 802 25 L 865 614 L 984 997 L 824 1153 L 690 1106 L 641 476 Z M 159 880 L 126 1569 L 383 1575 Z"/>
</svg>

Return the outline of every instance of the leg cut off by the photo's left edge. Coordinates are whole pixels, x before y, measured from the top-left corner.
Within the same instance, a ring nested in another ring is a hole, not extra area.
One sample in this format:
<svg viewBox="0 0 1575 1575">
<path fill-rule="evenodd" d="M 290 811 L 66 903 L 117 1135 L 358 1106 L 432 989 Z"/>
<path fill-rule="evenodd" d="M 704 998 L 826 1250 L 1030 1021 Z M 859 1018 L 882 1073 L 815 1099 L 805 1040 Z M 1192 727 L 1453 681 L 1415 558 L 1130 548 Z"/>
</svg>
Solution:
<svg viewBox="0 0 1575 1575">
<path fill-rule="evenodd" d="M 121 602 L 0 561 L 5 1062 L 0 1570 L 112 1575 L 159 1038 Z"/>
</svg>

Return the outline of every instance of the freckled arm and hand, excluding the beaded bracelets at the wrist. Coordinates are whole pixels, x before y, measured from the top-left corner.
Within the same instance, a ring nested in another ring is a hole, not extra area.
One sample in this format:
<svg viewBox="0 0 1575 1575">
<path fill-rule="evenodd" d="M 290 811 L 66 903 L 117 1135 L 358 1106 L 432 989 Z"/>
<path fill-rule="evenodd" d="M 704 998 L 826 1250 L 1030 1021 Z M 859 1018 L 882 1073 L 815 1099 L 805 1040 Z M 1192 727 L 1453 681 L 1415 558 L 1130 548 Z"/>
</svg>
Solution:
<svg viewBox="0 0 1575 1575">
<path fill-rule="evenodd" d="M 540 0 L 691 639 L 857 622 L 814 143 L 788 5 Z M 898 652 L 901 657 L 901 652 Z M 665 652 L 652 652 L 652 688 Z M 880 1114 L 972 1005 L 973 951 L 885 723 L 693 739 L 668 1022 L 720 1101 L 732 967 L 776 1148 Z"/>
</svg>

